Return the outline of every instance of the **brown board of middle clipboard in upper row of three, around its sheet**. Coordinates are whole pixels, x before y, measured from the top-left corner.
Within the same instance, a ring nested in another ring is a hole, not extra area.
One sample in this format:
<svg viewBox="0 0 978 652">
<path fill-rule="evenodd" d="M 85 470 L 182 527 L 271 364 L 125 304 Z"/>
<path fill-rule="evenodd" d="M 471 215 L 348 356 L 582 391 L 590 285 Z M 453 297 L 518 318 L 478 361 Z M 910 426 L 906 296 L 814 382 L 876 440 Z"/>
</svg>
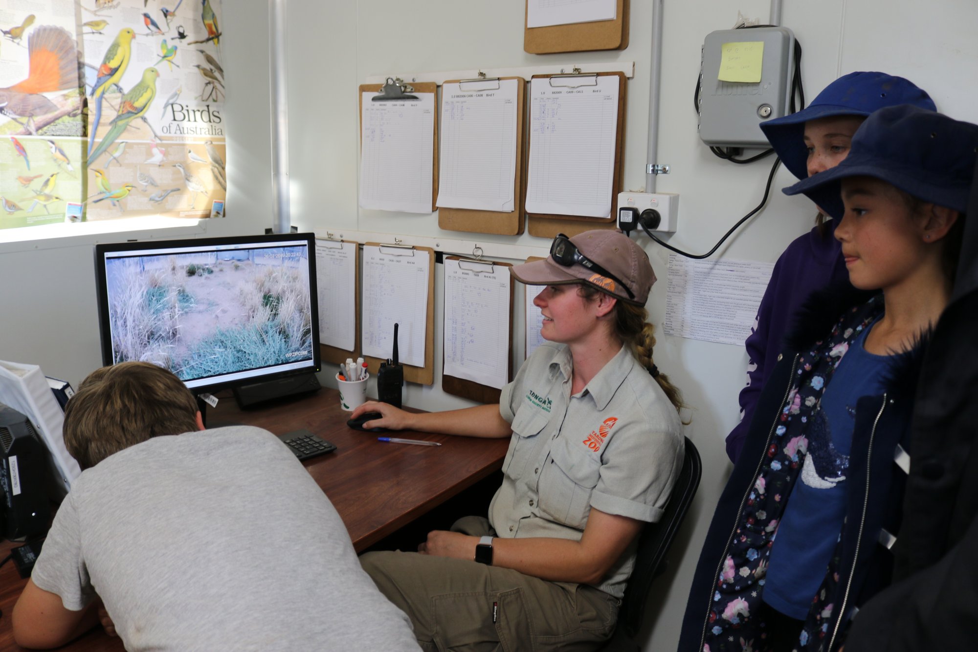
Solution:
<svg viewBox="0 0 978 652">
<path fill-rule="evenodd" d="M 462 90 L 471 88 L 473 91 L 483 88 L 486 84 L 516 80 L 516 151 L 515 151 L 515 173 L 513 174 L 513 210 L 502 212 L 497 210 L 469 210 L 438 208 L 438 226 L 448 231 L 468 231 L 471 233 L 495 233 L 497 235 L 519 235 L 523 232 L 523 187 L 525 177 L 523 174 L 523 140 L 524 140 L 524 116 L 526 102 L 526 80 L 522 77 L 499 77 L 479 78 L 479 79 L 453 79 L 445 82 L 447 84 L 460 84 Z M 442 108 L 445 107 L 445 85 L 442 86 Z M 444 111 L 441 112 L 442 128 L 441 138 L 446 137 L 446 124 Z M 447 162 L 441 161 L 441 165 Z M 435 193 L 437 196 L 437 193 Z"/>
</svg>

